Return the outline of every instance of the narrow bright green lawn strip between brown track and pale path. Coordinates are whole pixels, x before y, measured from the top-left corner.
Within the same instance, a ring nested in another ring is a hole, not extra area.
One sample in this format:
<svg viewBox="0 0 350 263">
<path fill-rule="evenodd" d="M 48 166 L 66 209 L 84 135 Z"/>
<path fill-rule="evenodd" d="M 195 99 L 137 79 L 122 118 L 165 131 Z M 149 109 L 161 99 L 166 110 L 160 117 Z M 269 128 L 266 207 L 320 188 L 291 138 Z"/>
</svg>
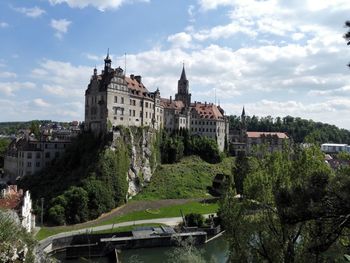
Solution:
<svg viewBox="0 0 350 263">
<path fill-rule="evenodd" d="M 201 203 L 201 202 L 188 202 L 182 205 L 171 205 L 167 207 L 162 207 L 156 210 L 144 210 L 138 212 L 132 212 L 115 218 L 111 218 L 106 221 L 97 222 L 96 224 L 89 226 L 89 228 L 100 225 L 115 224 L 128 221 L 137 221 L 144 219 L 156 219 L 156 218 L 166 218 L 166 217 L 179 217 L 181 212 L 186 215 L 188 213 L 199 213 L 199 214 L 211 214 L 216 213 L 218 210 L 218 204 L 216 202 L 212 203 Z M 43 227 L 35 236 L 36 239 L 42 240 L 49 236 L 56 235 L 62 232 L 69 232 L 73 230 L 81 229 L 78 226 L 61 226 L 61 227 Z"/>
</svg>

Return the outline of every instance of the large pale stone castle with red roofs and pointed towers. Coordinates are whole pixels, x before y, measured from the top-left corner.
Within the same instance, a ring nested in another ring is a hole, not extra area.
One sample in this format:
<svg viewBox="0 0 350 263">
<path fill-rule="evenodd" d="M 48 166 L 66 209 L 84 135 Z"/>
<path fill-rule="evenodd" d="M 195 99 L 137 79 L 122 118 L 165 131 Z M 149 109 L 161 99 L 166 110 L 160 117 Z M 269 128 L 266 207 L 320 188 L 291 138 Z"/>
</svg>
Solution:
<svg viewBox="0 0 350 263">
<path fill-rule="evenodd" d="M 125 76 L 113 69 L 107 54 L 101 74 L 94 69 L 85 92 L 85 130 L 105 133 L 113 127 L 150 126 L 173 132 L 187 129 L 192 135 L 217 141 L 221 151 L 228 138 L 229 121 L 224 110 L 213 103 L 192 102 L 185 67 L 178 81 L 175 99 L 161 98 L 142 83 L 141 76 Z"/>
</svg>

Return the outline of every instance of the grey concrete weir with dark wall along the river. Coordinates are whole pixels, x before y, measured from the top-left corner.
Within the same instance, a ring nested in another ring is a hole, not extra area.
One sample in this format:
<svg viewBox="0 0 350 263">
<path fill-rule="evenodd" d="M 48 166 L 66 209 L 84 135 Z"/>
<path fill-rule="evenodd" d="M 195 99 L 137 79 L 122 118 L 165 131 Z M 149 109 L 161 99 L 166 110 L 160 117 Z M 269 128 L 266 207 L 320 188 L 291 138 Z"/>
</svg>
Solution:
<svg viewBox="0 0 350 263">
<path fill-rule="evenodd" d="M 204 244 L 207 241 L 207 232 L 193 229 L 177 233 L 167 226 L 139 227 L 134 231 L 115 234 L 79 234 L 56 238 L 45 242 L 42 249 L 50 254 L 65 251 L 67 259 L 107 256 L 111 262 L 118 262 L 117 250 L 178 246 L 187 239 L 191 239 L 195 245 Z"/>
</svg>

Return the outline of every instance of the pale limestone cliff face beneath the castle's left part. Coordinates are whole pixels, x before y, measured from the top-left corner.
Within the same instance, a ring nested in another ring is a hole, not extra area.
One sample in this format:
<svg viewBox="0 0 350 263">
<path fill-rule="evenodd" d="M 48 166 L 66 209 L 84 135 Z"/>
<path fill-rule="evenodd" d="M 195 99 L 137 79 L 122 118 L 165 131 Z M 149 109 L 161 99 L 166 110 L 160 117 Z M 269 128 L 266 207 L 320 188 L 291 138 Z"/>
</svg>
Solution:
<svg viewBox="0 0 350 263">
<path fill-rule="evenodd" d="M 113 133 L 113 141 L 122 137 L 130 147 L 130 168 L 127 174 L 128 198 L 139 193 L 151 180 L 157 166 L 156 154 L 153 153 L 156 136 L 157 131 L 150 127 L 128 127 Z"/>
</svg>

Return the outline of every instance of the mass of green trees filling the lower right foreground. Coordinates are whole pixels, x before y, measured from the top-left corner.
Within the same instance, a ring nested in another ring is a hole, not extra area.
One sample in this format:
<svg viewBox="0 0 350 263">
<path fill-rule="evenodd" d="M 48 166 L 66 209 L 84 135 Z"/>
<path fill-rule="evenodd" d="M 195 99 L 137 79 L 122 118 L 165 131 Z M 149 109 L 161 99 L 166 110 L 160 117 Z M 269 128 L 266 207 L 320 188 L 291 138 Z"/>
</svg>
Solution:
<svg viewBox="0 0 350 263">
<path fill-rule="evenodd" d="M 316 147 L 238 160 L 235 184 L 228 185 L 219 212 L 232 262 L 344 259 L 350 240 L 349 167 L 331 170 Z"/>
</svg>

